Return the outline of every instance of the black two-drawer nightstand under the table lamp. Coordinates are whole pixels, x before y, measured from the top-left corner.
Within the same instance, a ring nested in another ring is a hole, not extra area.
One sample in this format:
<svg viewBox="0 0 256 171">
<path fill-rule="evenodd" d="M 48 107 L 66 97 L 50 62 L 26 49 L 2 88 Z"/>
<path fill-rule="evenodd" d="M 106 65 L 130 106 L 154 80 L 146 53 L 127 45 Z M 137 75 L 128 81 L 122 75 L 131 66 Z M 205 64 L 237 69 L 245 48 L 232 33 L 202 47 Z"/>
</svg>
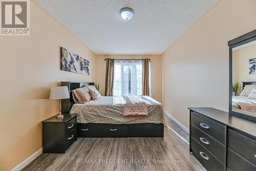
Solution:
<svg viewBox="0 0 256 171">
<path fill-rule="evenodd" d="M 65 153 L 66 149 L 76 141 L 77 114 L 63 114 L 63 118 L 55 116 L 42 122 L 42 153 Z"/>
</svg>

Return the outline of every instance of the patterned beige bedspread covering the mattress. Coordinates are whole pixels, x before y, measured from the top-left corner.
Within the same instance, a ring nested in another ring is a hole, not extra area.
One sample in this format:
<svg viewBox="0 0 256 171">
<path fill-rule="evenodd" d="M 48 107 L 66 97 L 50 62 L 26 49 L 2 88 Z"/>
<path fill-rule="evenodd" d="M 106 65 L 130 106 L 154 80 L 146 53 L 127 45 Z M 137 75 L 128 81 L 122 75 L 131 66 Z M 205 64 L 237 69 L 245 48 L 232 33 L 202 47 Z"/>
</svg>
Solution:
<svg viewBox="0 0 256 171">
<path fill-rule="evenodd" d="M 70 113 L 78 114 L 78 123 L 163 123 L 167 131 L 167 121 L 163 106 L 149 96 L 141 96 L 147 104 L 148 116 L 123 117 L 123 105 L 126 104 L 122 96 L 102 96 L 98 100 L 87 103 L 75 103 Z"/>
</svg>

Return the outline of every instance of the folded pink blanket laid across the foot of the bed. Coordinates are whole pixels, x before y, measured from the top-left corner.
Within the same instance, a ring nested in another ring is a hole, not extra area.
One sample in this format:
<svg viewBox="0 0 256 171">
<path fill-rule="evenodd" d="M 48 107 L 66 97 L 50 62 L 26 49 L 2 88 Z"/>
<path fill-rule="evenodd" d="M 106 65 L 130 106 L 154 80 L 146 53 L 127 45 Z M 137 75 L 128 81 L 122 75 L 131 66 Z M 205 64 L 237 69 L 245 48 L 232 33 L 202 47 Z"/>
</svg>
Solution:
<svg viewBox="0 0 256 171">
<path fill-rule="evenodd" d="M 147 104 L 140 95 L 123 96 L 126 104 L 123 105 L 123 116 L 147 116 Z"/>
</svg>

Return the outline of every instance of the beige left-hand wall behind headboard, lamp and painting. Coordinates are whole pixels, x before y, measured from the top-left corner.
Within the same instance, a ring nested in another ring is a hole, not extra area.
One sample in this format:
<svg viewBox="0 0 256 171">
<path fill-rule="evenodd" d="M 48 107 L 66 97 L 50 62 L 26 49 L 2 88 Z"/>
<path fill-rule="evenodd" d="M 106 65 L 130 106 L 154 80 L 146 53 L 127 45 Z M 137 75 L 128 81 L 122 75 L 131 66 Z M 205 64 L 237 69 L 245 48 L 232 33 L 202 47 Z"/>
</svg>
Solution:
<svg viewBox="0 0 256 171">
<path fill-rule="evenodd" d="M 0 170 L 10 170 L 42 147 L 41 121 L 57 114 L 49 100 L 59 81 L 94 81 L 95 54 L 30 3 L 30 36 L 0 36 Z M 60 47 L 90 61 L 90 76 L 60 71 Z"/>
</svg>

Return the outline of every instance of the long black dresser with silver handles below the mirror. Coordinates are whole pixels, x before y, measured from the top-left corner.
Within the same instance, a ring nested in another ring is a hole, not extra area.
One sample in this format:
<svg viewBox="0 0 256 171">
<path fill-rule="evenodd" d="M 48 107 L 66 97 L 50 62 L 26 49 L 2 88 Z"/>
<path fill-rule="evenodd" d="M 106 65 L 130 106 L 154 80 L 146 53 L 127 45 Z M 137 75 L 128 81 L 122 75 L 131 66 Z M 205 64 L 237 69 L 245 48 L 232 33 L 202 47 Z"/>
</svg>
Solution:
<svg viewBox="0 0 256 171">
<path fill-rule="evenodd" d="M 256 122 L 214 108 L 188 109 L 189 152 L 207 170 L 256 170 Z"/>
</svg>

